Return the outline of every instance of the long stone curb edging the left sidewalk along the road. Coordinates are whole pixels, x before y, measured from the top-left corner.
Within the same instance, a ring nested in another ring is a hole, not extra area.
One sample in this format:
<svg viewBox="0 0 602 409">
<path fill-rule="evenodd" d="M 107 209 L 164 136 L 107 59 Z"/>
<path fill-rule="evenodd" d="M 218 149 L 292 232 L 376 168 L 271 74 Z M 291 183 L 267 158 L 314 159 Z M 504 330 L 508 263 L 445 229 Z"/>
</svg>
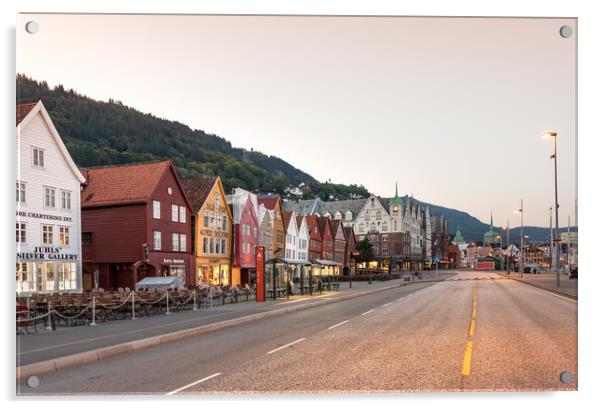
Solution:
<svg viewBox="0 0 602 409">
<path fill-rule="evenodd" d="M 315 302 L 309 302 L 306 304 L 300 304 L 290 307 L 278 308 L 276 310 L 264 311 L 256 314 L 247 315 L 244 317 L 233 318 L 226 321 L 215 322 L 212 324 L 202 325 L 196 328 L 187 328 L 175 332 L 169 332 L 166 334 L 155 335 L 148 338 L 138 339 L 135 341 L 127 341 L 117 345 L 111 345 L 108 347 L 93 349 L 91 351 L 80 352 L 73 355 L 62 356 L 58 358 L 49 359 L 46 361 L 35 362 L 32 364 L 27 364 L 23 366 L 18 366 L 16 375 L 17 380 L 26 378 L 32 375 L 40 375 L 49 372 L 55 372 L 61 369 L 70 368 L 83 364 L 90 364 L 93 362 L 101 361 L 103 359 L 111 358 L 116 355 L 122 355 L 129 352 L 142 351 L 146 348 L 168 344 L 171 342 L 179 341 L 185 338 L 189 338 L 196 335 L 206 334 L 209 332 L 219 331 L 225 328 L 233 327 L 235 325 L 244 324 L 247 322 L 257 321 L 263 318 L 274 317 L 278 315 L 283 315 L 289 312 L 305 310 L 309 308 L 316 307 L 318 305 L 332 304 L 339 301 L 344 301 L 354 297 L 361 297 L 364 295 L 376 294 L 379 292 L 391 290 L 393 288 L 403 287 L 408 284 L 416 284 L 416 283 L 430 283 L 430 282 L 440 282 L 442 280 L 431 280 L 431 281 L 412 281 L 408 283 L 400 283 L 395 285 L 390 285 L 386 287 L 381 287 L 373 290 L 364 290 L 361 292 L 342 295 L 336 298 L 322 298 Z"/>
</svg>

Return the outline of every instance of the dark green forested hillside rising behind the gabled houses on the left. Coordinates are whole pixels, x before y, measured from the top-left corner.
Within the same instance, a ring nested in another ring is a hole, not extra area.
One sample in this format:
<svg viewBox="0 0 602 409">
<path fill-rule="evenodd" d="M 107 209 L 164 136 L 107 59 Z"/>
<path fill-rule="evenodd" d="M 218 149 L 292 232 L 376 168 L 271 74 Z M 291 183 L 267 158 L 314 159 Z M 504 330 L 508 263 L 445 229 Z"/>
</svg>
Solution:
<svg viewBox="0 0 602 409">
<path fill-rule="evenodd" d="M 282 193 L 304 183 L 307 197 L 367 196 L 363 186 L 320 183 L 275 156 L 247 151 L 216 135 L 144 114 L 119 101 L 96 101 L 62 85 L 17 76 L 17 103 L 41 99 L 80 167 L 171 159 L 183 178 L 219 175 L 226 192 Z"/>
</svg>

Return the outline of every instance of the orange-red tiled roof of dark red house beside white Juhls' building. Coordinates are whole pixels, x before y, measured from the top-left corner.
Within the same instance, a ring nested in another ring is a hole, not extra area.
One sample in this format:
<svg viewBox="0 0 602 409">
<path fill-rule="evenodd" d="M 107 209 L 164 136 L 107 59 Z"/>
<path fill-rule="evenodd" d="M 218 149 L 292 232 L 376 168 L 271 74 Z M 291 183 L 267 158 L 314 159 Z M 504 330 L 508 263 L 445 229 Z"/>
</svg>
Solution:
<svg viewBox="0 0 602 409">
<path fill-rule="evenodd" d="M 82 208 L 146 202 L 169 168 L 170 161 L 159 161 L 82 169 Z"/>
</svg>

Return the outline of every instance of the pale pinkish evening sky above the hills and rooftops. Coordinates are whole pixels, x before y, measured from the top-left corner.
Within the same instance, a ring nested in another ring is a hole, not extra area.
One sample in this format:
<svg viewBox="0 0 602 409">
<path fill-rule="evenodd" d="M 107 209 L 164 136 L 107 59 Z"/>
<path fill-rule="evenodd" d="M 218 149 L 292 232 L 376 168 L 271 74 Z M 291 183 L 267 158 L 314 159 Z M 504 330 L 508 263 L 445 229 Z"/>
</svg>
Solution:
<svg viewBox="0 0 602 409">
<path fill-rule="evenodd" d="M 25 24 L 39 31 L 28 34 Z M 577 21 L 21 14 L 17 72 L 356 183 L 548 226 L 574 222 Z M 573 28 L 563 38 L 559 29 Z"/>
</svg>

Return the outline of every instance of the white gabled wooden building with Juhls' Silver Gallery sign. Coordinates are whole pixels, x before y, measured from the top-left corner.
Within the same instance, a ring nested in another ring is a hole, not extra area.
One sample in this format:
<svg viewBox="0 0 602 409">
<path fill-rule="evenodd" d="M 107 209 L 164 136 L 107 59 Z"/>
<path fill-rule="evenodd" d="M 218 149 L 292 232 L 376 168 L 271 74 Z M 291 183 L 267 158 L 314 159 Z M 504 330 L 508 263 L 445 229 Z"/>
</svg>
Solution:
<svg viewBox="0 0 602 409">
<path fill-rule="evenodd" d="M 85 178 L 42 101 L 16 111 L 17 293 L 80 292 Z"/>
</svg>

